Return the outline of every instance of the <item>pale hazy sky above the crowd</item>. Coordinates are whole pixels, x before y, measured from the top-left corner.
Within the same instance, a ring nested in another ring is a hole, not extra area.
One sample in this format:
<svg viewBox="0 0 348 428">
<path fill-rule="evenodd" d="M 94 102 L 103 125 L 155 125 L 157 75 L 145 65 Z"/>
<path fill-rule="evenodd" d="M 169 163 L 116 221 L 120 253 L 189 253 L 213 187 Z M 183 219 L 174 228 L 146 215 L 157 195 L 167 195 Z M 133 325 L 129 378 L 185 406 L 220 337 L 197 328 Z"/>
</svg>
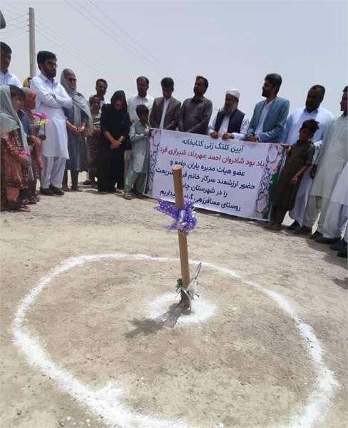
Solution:
<svg viewBox="0 0 348 428">
<path fill-rule="evenodd" d="M 339 115 L 348 81 L 347 1 L 5 0 L 0 38 L 11 46 L 10 71 L 21 81 L 29 76 L 29 7 L 36 52 L 56 54 L 57 78 L 72 68 L 86 97 L 100 77 L 108 81 L 107 98 L 118 89 L 131 96 L 140 75 L 150 80 L 148 93 L 161 96 L 160 80 L 170 76 L 173 96 L 183 101 L 200 74 L 215 109 L 236 87 L 239 108 L 250 118 L 263 78 L 280 73 L 279 96 L 290 100 L 290 112 L 305 105 L 310 86 L 322 84 L 322 107 Z"/>
</svg>

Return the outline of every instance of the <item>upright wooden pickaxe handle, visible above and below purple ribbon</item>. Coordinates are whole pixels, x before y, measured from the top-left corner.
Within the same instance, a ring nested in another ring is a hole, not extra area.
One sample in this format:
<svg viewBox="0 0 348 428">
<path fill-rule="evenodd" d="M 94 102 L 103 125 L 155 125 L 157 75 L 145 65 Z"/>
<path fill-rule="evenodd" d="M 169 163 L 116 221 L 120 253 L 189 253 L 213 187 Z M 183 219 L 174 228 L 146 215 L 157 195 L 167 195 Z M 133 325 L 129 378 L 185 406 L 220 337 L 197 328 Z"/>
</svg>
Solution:
<svg viewBox="0 0 348 428">
<path fill-rule="evenodd" d="M 183 209 L 184 208 L 184 193 L 183 193 L 183 173 L 180 165 L 173 166 L 173 180 L 174 180 L 174 193 L 175 193 L 175 205 Z M 181 278 L 183 280 L 183 288 L 187 288 L 190 284 L 190 266 L 188 264 L 188 240 L 183 233 L 178 231 L 179 240 L 179 252 L 180 252 L 180 267 L 181 267 Z M 185 306 L 190 306 L 188 296 L 184 292 L 181 292 L 181 302 L 185 302 Z"/>
</svg>

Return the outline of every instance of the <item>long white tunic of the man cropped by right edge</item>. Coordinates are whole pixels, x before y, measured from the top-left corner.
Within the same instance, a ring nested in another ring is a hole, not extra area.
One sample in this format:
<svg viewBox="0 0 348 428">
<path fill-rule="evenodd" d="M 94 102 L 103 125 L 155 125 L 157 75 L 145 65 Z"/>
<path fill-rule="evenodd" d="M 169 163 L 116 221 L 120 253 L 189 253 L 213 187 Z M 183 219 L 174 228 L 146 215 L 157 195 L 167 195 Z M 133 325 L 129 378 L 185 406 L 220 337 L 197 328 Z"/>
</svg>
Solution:
<svg viewBox="0 0 348 428">
<path fill-rule="evenodd" d="M 323 147 L 317 161 L 310 196 L 330 199 L 335 183 L 348 161 L 348 118 L 339 116 L 324 136 Z"/>
</svg>

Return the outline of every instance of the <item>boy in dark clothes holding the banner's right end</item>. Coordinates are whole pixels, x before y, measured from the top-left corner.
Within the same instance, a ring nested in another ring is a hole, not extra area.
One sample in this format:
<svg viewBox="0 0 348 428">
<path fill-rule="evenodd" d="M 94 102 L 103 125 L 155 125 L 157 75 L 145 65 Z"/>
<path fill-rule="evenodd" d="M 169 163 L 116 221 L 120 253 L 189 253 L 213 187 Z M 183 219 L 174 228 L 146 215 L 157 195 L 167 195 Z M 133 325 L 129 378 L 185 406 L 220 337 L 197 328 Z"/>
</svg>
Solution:
<svg viewBox="0 0 348 428">
<path fill-rule="evenodd" d="M 314 119 L 303 122 L 297 143 L 285 148 L 287 159 L 275 188 L 270 223 L 267 223 L 265 228 L 281 230 L 285 214 L 294 207 L 302 175 L 312 165 L 314 155 L 312 137 L 318 128 L 318 122 Z"/>
</svg>

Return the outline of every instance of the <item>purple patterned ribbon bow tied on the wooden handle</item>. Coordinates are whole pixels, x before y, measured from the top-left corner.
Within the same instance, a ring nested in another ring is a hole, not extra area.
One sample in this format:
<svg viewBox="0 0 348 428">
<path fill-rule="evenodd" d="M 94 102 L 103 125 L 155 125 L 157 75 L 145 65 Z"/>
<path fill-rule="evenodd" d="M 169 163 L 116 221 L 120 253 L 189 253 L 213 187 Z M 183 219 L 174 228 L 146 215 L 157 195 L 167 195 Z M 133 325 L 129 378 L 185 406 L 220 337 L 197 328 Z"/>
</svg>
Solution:
<svg viewBox="0 0 348 428">
<path fill-rule="evenodd" d="M 178 230 L 184 235 L 188 235 L 190 230 L 193 230 L 197 225 L 197 218 L 193 213 L 193 200 L 185 198 L 184 208 L 180 210 L 173 203 L 159 199 L 160 205 L 155 210 L 160 213 L 173 217 L 173 223 L 170 226 L 165 226 L 167 230 Z"/>
</svg>

